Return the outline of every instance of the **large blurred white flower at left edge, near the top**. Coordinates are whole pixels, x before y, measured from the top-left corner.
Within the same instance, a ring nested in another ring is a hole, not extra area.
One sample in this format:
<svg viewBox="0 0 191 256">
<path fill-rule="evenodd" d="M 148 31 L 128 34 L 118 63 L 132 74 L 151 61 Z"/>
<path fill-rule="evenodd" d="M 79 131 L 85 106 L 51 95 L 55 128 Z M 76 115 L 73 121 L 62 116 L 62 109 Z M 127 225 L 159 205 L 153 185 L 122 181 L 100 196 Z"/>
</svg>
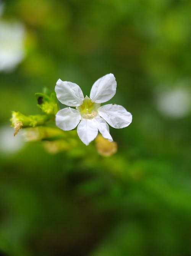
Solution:
<svg viewBox="0 0 191 256">
<path fill-rule="evenodd" d="M 10 71 L 24 56 L 24 27 L 0 20 L 0 71 Z"/>
</svg>

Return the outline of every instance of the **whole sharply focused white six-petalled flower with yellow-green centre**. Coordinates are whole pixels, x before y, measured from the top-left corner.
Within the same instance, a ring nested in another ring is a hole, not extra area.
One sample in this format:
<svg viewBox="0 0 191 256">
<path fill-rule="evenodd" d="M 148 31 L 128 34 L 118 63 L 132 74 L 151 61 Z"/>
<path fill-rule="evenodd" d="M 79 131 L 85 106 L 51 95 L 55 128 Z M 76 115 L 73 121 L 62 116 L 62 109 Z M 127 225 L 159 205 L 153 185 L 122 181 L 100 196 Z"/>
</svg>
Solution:
<svg viewBox="0 0 191 256">
<path fill-rule="evenodd" d="M 86 145 L 95 139 L 98 130 L 104 138 L 113 141 L 108 124 L 119 129 L 128 126 L 132 121 L 131 113 L 120 105 L 100 106 L 100 103 L 115 95 L 116 86 L 113 74 L 107 74 L 95 81 L 90 97 L 84 98 L 78 84 L 58 79 L 55 87 L 57 98 L 62 104 L 70 107 L 57 112 L 56 125 L 62 130 L 72 130 L 78 125 L 78 136 Z"/>
</svg>

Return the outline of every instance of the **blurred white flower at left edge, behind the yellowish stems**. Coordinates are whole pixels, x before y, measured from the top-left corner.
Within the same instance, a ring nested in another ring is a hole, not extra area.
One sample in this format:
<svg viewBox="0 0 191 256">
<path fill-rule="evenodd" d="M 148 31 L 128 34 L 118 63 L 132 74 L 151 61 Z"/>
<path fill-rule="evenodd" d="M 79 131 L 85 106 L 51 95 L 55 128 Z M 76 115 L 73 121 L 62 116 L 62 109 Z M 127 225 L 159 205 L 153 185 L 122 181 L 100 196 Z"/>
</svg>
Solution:
<svg viewBox="0 0 191 256">
<path fill-rule="evenodd" d="M 21 134 L 13 136 L 13 128 L 2 126 L 0 128 L 0 152 L 2 154 L 13 154 L 19 151 L 24 145 L 24 139 Z"/>
</svg>

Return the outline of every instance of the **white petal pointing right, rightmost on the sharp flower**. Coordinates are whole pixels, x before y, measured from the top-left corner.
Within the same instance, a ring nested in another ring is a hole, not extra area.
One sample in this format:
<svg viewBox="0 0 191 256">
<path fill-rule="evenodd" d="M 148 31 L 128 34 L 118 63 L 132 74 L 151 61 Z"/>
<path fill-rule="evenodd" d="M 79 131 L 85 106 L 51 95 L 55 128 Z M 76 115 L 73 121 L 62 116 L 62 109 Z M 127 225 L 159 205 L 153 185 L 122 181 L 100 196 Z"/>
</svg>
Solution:
<svg viewBox="0 0 191 256">
<path fill-rule="evenodd" d="M 97 111 L 110 126 L 117 129 L 127 127 L 132 122 L 131 113 L 120 105 L 107 104 Z"/>
</svg>

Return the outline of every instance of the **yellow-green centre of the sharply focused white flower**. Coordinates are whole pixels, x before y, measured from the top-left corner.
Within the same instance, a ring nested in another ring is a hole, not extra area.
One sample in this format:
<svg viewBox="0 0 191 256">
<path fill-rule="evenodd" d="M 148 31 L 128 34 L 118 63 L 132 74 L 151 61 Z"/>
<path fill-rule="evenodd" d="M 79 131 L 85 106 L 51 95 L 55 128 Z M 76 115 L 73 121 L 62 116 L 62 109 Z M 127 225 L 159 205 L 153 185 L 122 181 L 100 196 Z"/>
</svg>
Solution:
<svg viewBox="0 0 191 256">
<path fill-rule="evenodd" d="M 81 116 L 86 119 L 92 119 L 97 115 L 97 109 L 100 107 L 100 104 L 92 102 L 89 97 L 85 97 L 81 106 L 76 107 L 80 112 Z"/>
</svg>

